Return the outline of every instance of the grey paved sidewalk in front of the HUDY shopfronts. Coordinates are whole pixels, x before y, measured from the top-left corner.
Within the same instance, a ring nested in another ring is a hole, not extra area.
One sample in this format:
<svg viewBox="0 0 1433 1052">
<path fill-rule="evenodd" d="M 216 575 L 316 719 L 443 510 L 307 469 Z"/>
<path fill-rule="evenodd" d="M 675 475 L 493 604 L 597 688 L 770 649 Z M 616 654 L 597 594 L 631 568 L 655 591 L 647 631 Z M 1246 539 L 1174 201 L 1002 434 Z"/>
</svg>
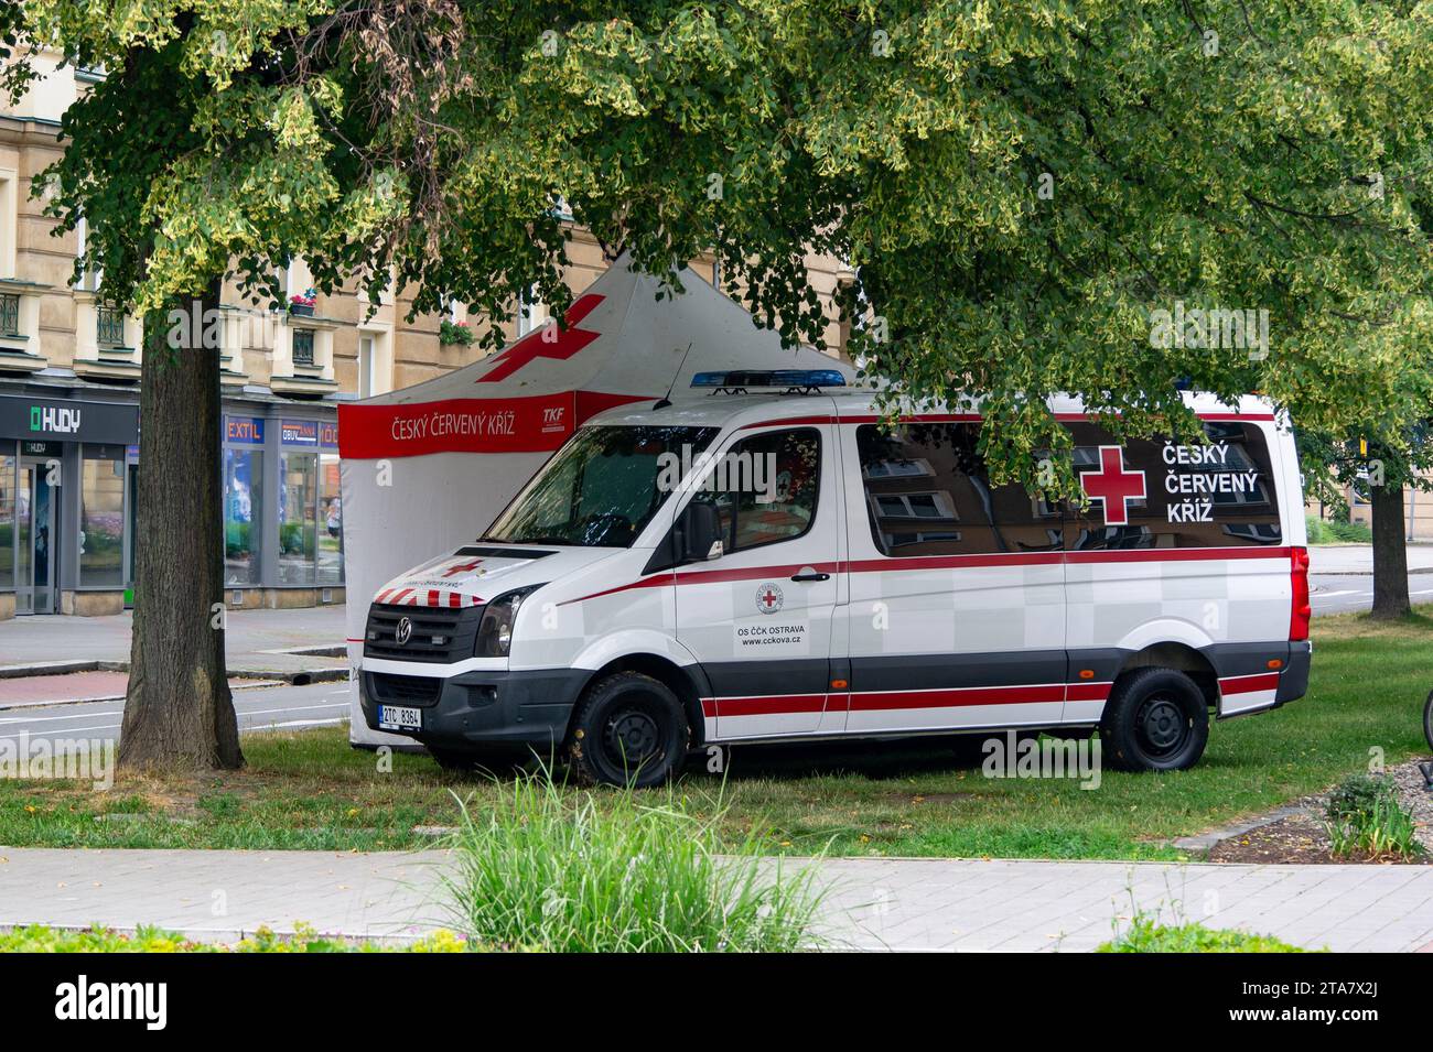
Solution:
<svg viewBox="0 0 1433 1052">
<path fill-rule="evenodd" d="M 0 674 L 17 666 L 72 661 L 123 664 L 129 661 L 132 615 L 113 617 L 14 617 L 0 621 Z M 225 627 L 225 653 L 231 673 L 294 674 L 334 670 L 345 674 L 342 657 L 292 654 L 307 647 L 342 647 L 344 607 L 299 610 L 231 610 Z"/>
</svg>

